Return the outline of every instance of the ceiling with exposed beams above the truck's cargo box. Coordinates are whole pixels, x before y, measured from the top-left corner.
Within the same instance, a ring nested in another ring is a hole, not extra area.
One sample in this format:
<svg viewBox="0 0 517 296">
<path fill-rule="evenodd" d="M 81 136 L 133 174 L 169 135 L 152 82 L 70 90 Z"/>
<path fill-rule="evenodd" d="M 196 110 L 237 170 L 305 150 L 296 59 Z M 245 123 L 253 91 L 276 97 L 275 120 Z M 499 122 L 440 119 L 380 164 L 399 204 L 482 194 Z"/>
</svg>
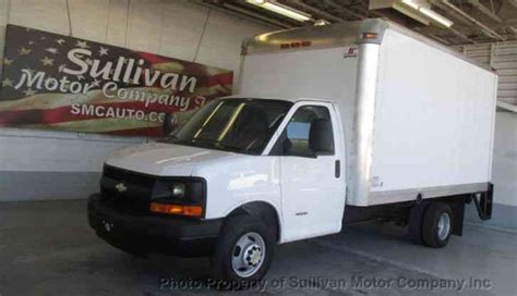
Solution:
<svg viewBox="0 0 517 296">
<path fill-rule="evenodd" d="M 433 24 L 423 25 L 393 9 L 372 11 L 369 10 L 368 0 L 277 0 L 281 4 L 311 14 L 313 20 L 304 23 L 247 3 L 244 0 L 203 0 L 213 8 L 279 28 L 312 26 L 316 20 L 338 23 L 366 17 L 387 17 L 448 46 L 517 40 L 517 0 L 420 1 L 453 21 L 453 26 L 447 28 Z"/>
</svg>

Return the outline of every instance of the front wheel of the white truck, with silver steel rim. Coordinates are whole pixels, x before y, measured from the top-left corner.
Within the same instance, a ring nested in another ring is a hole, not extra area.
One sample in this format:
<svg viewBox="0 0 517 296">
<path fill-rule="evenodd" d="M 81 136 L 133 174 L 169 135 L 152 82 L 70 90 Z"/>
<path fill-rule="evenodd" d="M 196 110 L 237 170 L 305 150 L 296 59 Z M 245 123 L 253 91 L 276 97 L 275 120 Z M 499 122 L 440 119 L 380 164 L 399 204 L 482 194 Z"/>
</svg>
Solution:
<svg viewBox="0 0 517 296">
<path fill-rule="evenodd" d="M 216 280 L 253 283 L 269 269 L 276 233 L 272 225 L 255 217 L 230 218 L 221 230 L 212 257 Z"/>
</svg>

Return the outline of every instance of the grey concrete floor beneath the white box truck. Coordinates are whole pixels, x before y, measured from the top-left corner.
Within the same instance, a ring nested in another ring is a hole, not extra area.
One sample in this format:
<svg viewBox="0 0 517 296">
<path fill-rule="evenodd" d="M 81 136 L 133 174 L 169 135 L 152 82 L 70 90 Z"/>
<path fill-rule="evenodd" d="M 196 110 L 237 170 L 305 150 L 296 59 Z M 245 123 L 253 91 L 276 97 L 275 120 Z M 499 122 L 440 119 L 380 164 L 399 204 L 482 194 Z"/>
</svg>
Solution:
<svg viewBox="0 0 517 296">
<path fill-rule="evenodd" d="M 224 293 L 205 286 L 206 259 L 134 258 L 97 238 L 85 211 L 84 200 L 0 203 L 0 295 L 517 295 L 512 232 L 467 225 L 446 248 L 430 249 L 390 225 L 349 226 L 278 247 L 265 287 Z M 469 287 L 473 279 L 483 288 Z M 414 287 L 444 280 L 466 284 L 461 293 Z"/>
</svg>

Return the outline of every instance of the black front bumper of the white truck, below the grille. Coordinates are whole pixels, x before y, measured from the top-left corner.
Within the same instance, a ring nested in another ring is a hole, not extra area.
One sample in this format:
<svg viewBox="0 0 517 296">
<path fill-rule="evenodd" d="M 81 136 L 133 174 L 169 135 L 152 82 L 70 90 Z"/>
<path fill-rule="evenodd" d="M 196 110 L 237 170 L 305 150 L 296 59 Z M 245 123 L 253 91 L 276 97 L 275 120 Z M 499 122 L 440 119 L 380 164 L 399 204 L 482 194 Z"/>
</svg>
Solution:
<svg viewBox="0 0 517 296">
<path fill-rule="evenodd" d="M 223 219 L 128 213 L 107 207 L 95 194 L 88 199 L 88 223 L 100 238 L 133 255 L 200 257 L 212 254 Z"/>
</svg>

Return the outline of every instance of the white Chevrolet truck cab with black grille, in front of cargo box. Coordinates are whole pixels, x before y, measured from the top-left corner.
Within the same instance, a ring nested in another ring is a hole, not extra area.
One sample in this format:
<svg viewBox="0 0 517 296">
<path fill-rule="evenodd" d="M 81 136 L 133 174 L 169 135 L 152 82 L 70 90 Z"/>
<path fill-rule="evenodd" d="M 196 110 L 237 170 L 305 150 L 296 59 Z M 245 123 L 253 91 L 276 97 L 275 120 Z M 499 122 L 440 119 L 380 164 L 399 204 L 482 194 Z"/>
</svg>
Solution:
<svg viewBox="0 0 517 296">
<path fill-rule="evenodd" d="M 229 221 L 250 214 L 267 225 L 255 230 L 269 235 L 257 244 L 262 252 L 339 232 L 346 160 L 337 108 L 315 99 L 213 100 L 160 141 L 113 152 L 89 222 L 141 255 L 209 255 Z"/>
</svg>

